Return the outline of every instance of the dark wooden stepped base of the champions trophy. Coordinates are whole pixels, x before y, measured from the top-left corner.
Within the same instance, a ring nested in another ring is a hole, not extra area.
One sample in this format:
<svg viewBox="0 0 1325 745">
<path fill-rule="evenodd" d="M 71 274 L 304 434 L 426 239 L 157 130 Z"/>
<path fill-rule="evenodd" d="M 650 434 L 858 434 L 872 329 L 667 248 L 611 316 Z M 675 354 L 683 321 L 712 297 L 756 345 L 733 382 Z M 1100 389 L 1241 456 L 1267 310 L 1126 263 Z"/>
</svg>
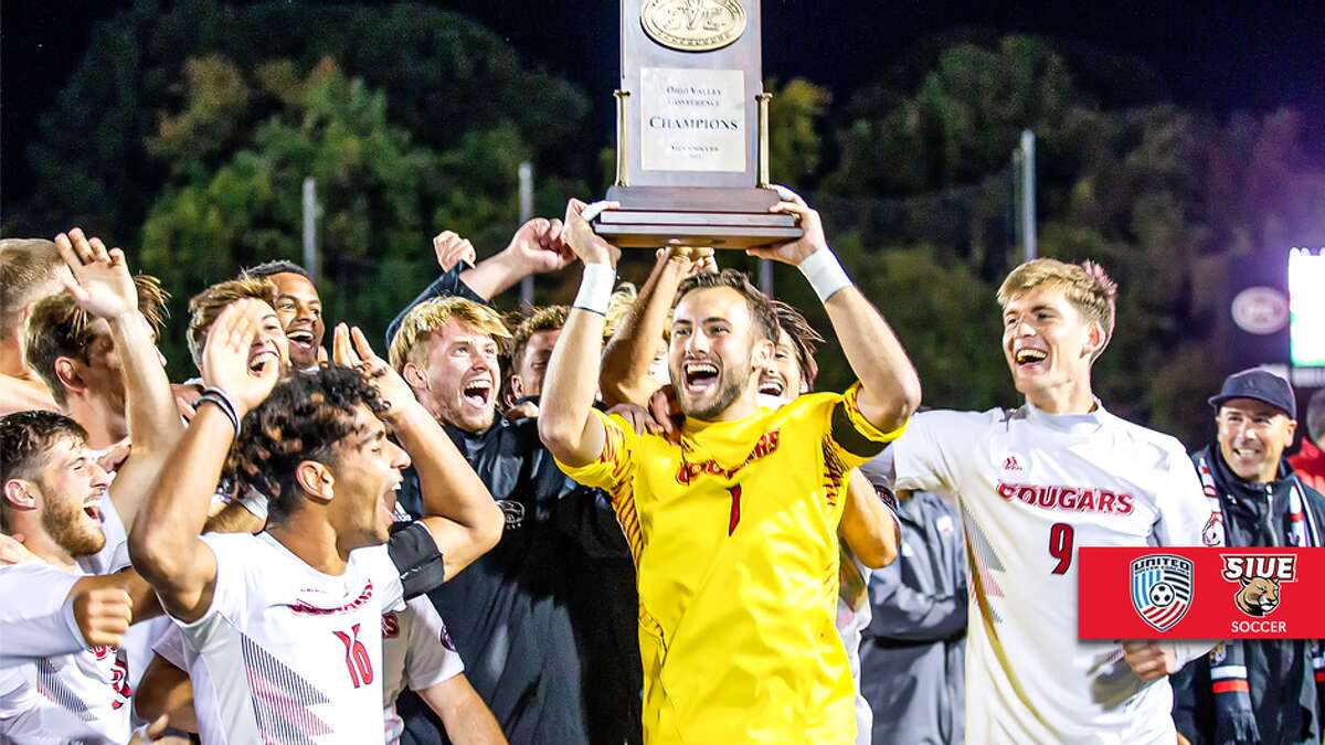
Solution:
<svg viewBox="0 0 1325 745">
<path fill-rule="evenodd" d="M 745 251 L 803 235 L 795 216 L 768 212 L 778 194 L 766 188 L 611 187 L 607 199 L 621 208 L 599 215 L 594 232 L 620 248 Z"/>
</svg>

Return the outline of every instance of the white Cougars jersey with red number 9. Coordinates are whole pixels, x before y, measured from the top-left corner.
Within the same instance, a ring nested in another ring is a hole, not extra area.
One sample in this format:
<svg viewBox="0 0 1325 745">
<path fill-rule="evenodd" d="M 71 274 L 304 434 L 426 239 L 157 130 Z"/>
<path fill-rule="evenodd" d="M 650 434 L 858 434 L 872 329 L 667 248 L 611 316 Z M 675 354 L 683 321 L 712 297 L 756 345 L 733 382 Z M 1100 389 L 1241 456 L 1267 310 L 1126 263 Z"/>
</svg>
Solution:
<svg viewBox="0 0 1325 745">
<path fill-rule="evenodd" d="M 970 565 L 966 738 L 1174 742 L 1167 679 L 1077 639 L 1081 546 L 1198 546 L 1210 508 L 1182 444 L 1097 408 L 917 415 L 898 489 L 959 498 Z M 888 452 L 888 451 L 885 451 Z"/>
</svg>

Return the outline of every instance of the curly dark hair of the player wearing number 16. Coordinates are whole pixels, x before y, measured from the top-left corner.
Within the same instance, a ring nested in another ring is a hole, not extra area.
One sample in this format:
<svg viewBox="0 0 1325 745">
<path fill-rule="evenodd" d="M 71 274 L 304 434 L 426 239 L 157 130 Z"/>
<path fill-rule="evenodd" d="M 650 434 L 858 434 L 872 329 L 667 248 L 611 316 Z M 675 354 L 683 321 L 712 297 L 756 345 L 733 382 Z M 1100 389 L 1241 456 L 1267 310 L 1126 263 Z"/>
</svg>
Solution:
<svg viewBox="0 0 1325 745">
<path fill-rule="evenodd" d="M 355 370 L 333 365 L 294 372 L 244 418 L 227 471 L 266 496 L 268 520 L 281 522 L 302 502 L 294 480 L 299 463 L 334 465 L 337 443 L 358 432 L 359 404 L 383 410 L 378 391 Z"/>
</svg>

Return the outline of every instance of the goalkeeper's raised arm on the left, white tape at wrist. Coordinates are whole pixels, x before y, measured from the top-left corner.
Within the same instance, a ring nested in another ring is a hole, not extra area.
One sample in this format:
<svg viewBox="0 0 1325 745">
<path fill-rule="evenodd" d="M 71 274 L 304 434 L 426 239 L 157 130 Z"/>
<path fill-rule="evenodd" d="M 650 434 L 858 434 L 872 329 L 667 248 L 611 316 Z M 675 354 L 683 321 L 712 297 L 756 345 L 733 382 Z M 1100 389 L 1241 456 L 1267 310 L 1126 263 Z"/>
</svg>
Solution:
<svg viewBox="0 0 1325 745">
<path fill-rule="evenodd" d="M 566 243 L 584 262 L 584 276 L 547 363 L 538 416 L 538 435 L 543 444 L 570 467 L 586 465 L 603 453 L 603 422 L 594 416 L 592 410 L 607 302 L 621 255 L 620 249 L 594 233 L 584 219 L 584 209 L 586 204 L 578 199 L 566 205 Z"/>
</svg>

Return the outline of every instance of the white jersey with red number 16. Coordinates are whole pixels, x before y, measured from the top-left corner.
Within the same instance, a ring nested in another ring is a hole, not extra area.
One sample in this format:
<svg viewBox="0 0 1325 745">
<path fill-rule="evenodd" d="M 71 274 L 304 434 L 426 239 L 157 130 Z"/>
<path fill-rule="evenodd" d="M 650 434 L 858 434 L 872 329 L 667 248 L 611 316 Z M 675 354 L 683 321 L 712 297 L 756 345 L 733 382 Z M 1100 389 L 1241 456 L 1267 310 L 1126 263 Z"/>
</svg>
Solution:
<svg viewBox="0 0 1325 745">
<path fill-rule="evenodd" d="M 317 571 L 268 533 L 207 534 L 216 586 L 182 623 L 203 742 L 382 740 L 382 614 L 404 587 L 387 546 Z"/>
</svg>

